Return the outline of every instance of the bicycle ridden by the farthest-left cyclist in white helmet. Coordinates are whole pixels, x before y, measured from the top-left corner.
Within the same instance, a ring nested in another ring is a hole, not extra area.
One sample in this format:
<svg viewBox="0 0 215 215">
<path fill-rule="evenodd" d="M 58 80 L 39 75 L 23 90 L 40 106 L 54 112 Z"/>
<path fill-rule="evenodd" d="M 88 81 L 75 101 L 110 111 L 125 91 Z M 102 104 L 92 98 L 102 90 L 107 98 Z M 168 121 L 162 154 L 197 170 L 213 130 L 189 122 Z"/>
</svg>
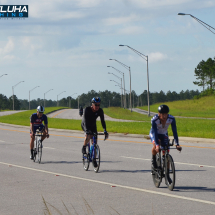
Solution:
<svg viewBox="0 0 215 215">
<path fill-rule="evenodd" d="M 38 163 L 41 163 L 41 158 L 42 158 L 42 141 L 41 137 L 43 136 L 43 129 L 39 131 L 38 129 L 36 130 L 35 134 L 35 140 L 34 140 L 34 151 L 33 151 L 33 156 L 34 156 L 34 162 L 36 161 L 36 157 L 38 156 Z"/>
</svg>

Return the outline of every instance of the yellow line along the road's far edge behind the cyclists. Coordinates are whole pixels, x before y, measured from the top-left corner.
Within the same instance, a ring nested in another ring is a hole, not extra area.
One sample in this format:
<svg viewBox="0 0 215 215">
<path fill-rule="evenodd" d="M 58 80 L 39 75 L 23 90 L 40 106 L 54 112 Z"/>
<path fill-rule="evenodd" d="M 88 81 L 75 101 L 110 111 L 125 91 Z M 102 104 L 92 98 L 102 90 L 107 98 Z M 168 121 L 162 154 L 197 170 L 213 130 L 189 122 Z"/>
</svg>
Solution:
<svg viewBox="0 0 215 215">
<path fill-rule="evenodd" d="M 12 129 L 6 129 L 6 128 L 0 128 L 0 130 L 29 133 L 28 131 L 19 131 L 19 130 L 12 130 Z M 73 137 L 73 138 L 81 138 L 81 139 L 85 138 L 85 137 L 69 136 L 69 135 L 62 135 L 62 134 L 50 134 L 50 135 L 56 136 L 56 137 Z M 101 138 L 98 138 L 98 139 L 103 140 Z M 143 143 L 143 144 L 149 144 L 149 145 L 152 144 L 150 142 L 141 142 L 141 141 L 132 141 L 132 140 L 111 140 L 111 139 L 108 139 L 108 141 L 124 142 L 124 143 Z M 186 147 L 186 148 L 215 149 L 215 147 L 206 147 L 206 146 L 187 146 L 187 145 L 181 145 L 181 146 Z"/>
</svg>

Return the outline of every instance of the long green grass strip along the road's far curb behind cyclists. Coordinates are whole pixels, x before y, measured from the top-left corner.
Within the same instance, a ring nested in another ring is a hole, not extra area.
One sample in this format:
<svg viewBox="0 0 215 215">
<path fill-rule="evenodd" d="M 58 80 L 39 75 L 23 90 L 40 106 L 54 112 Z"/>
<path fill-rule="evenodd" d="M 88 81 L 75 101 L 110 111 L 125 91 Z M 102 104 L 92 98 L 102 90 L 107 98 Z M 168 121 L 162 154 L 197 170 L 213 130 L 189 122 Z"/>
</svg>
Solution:
<svg viewBox="0 0 215 215">
<path fill-rule="evenodd" d="M 46 113 L 52 112 L 59 108 L 46 108 Z M 10 123 L 16 125 L 30 126 L 30 116 L 35 111 L 25 111 L 8 116 L 0 117 L 0 122 Z M 81 120 L 57 119 L 49 118 L 49 128 L 68 129 L 68 130 L 82 130 Z M 215 138 L 215 120 L 207 119 L 176 119 L 178 135 L 183 137 L 201 137 L 201 138 Z M 106 121 L 108 132 L 113 133 L 129 133 L 129 134 L 145 134 L 148 135 L 151 123 L 148 122 L 113 122 Z M 97 123 L 98 131 L 102 131 L 101 123 Z M 171 126 L 169 128 L 169 135 L 172 135 Z"/>
</svg>

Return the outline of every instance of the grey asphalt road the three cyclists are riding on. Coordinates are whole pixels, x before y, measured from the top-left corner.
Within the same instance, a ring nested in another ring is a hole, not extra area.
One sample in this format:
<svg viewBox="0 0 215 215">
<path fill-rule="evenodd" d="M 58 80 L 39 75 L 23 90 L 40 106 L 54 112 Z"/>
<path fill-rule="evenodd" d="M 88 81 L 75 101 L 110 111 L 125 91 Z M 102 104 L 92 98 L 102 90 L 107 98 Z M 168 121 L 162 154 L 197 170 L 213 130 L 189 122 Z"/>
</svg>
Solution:
<svg viewBox="0 0 215 215">
<path fill-rule="evenodd" d="M 214 214 L 215 144 L 186 143 L 171 150 L 176 187 L 155 188 L 150 174 L 151 143 L 142 138 L 99 140 L 101 166 L 84 171 L 83 133 L 50 129 L 42 164 L 29 159 L 29 128 L 0 125 L 0 214 Z M 202 167 L 200 167 L 202 166 Z M 76 211 L 76 212 L 75 212 Z M 93 211 L 93 212 L 92 212 Z"/>
</svg>

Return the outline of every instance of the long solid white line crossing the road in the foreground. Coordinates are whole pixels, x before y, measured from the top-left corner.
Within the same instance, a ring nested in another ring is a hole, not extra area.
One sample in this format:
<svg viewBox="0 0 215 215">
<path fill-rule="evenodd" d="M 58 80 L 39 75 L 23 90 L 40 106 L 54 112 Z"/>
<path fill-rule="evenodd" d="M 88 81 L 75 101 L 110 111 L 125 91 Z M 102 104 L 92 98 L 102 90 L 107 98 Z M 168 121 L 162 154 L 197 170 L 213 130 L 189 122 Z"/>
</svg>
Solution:
<svg viewBox="0 0 215 215">
<path fill-rule="evenodd" d="M 193 202 L 200 202 L 200 203 L 204 203 L 204 204 L 215 205 L 215 202 L 201 200 L 201 199 L 195 199 L 195 198 L 190 198 L 190 197 L 185 197 L 185 196 L 177 196 L 177 195 L 173 195 L 173 194 L 169 194 L 169 193 L 162 193 L 162 192 L 157 192 L 157 191 L 147 190 L 147 189 L 142 189 L 142 188 L 137 188 L 137 187 L 129 187 L 129 186 L 124 186 L 124 185 L 119 185 L 119 184 L 112 184 L 109 182 L 97 181 L 97 180 L 92 180 L 92 179 L 88 179 L 88 178 L 81 178 L 81 177 L 72 176 L 72 175 L 65 175 L 65 174 L 56 173 L 56 172 L 49 172 L 49 171 L 45 171 L 45 170 L 41 170 L 41 169 L 34 169 L 34 168 L 30 168 L 30 167 L 25 167 L 25 166 L 18 166 L 18 165 L 4 163 L 4 162 L 0 162 L 0 164 L 7 165 L 7 166 L 13 166 L 13 167 L 17 167 L 17 168 L 22 168 L 22 169 L 27 169 L 27 170 L 32 170 L 32 171 L 37 171 L 37 172 L 42 172 L 42 173 L 51 174 L 51 175 L 59 175 L 59 176 L 82 180 L 82 181 L 89 181 L 89 182 L 93 182 L 93 183 L 104 184 L 104 185 L 108 185 L 108 186 L 116 186 L 116 187 L 129 189 L 129 190 L 135 190 L 135 191 L 140 191 L 140 192 L 145 192 L 145 193 L 167 196 L 167 197 L 172 197 L 172 198 L 176 198 L 176 199 L 183 199 L 183 200 L 188 200 L 188 201 L 193 201 Z"/>
</svg>

